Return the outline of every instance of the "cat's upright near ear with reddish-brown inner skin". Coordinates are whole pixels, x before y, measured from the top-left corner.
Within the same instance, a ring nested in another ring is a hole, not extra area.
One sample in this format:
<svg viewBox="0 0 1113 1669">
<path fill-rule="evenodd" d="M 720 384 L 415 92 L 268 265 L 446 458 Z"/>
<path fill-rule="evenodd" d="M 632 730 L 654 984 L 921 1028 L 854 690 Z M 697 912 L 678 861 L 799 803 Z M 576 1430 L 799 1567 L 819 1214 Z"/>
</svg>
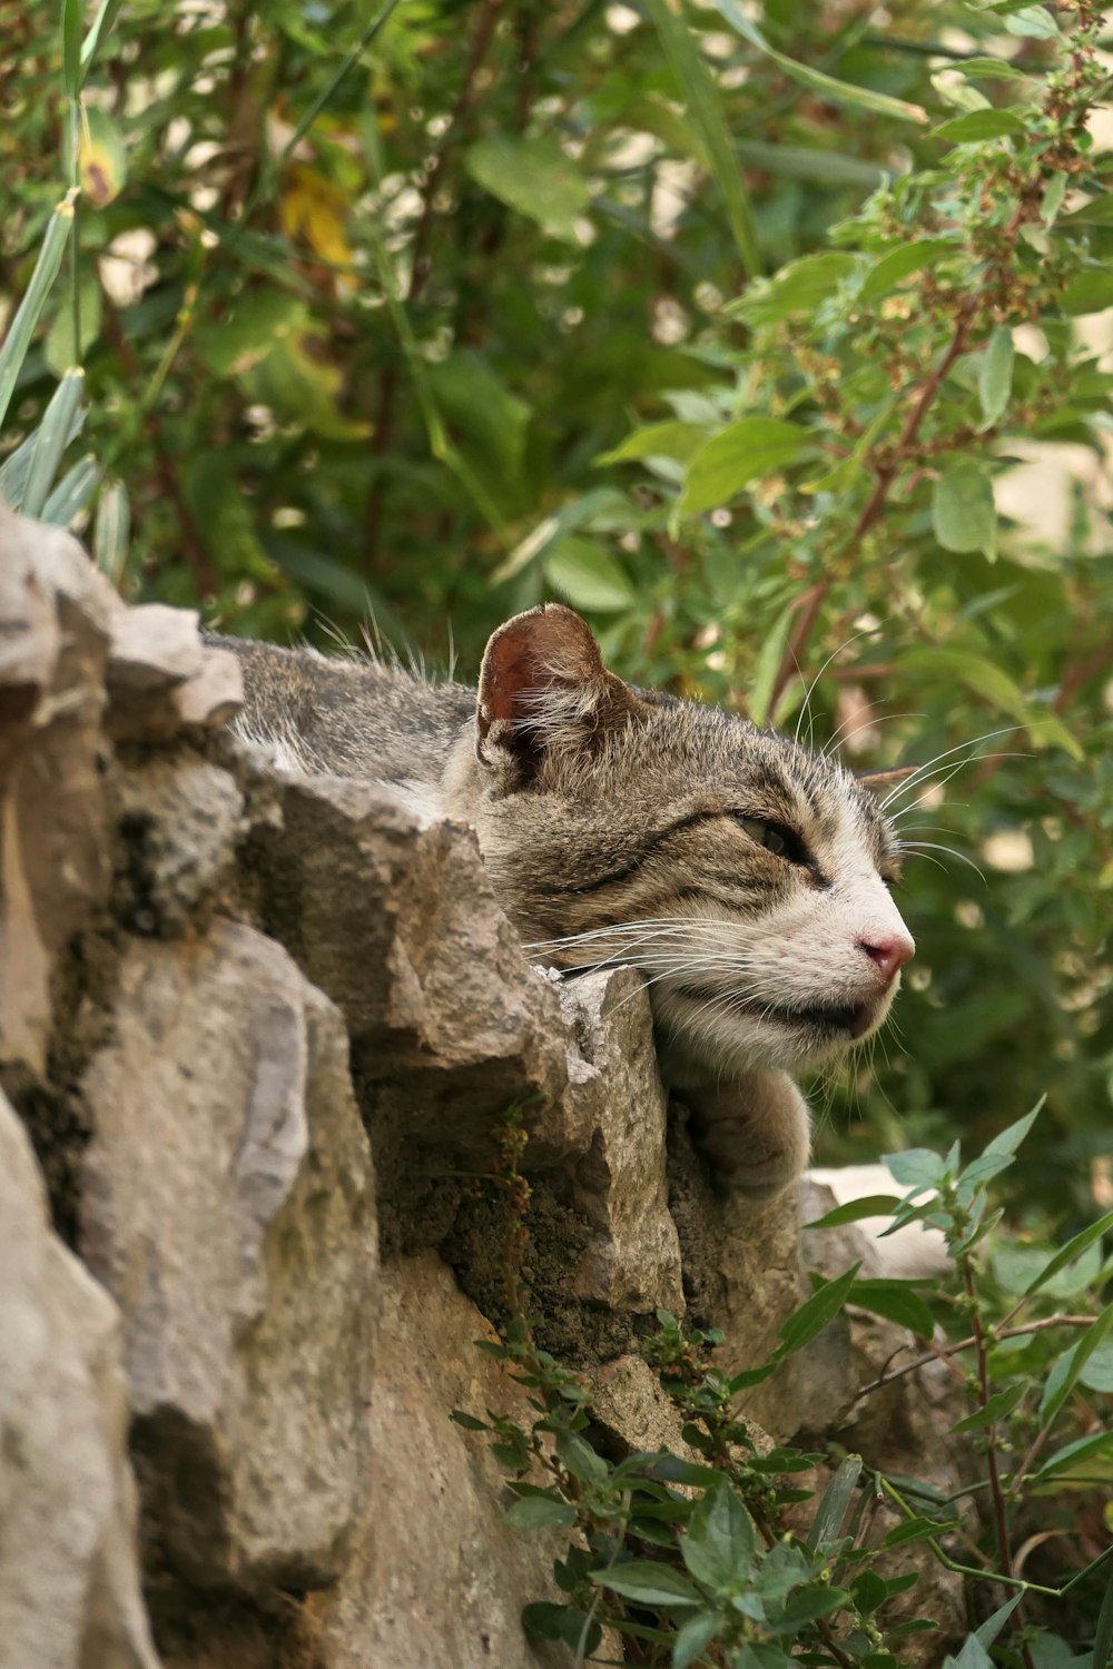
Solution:
<svg viewBox="0 0 1113 1669">
<path fill-rule="evenodd" d="M 499 626 L 487 644 L 476 753 L 481 764 L 512 764 L 526 783 L 547 754 L 591 748 L 637 708 L 629 684 L 602 664 L 587 623 L 546 603 Z"/>
</svg>

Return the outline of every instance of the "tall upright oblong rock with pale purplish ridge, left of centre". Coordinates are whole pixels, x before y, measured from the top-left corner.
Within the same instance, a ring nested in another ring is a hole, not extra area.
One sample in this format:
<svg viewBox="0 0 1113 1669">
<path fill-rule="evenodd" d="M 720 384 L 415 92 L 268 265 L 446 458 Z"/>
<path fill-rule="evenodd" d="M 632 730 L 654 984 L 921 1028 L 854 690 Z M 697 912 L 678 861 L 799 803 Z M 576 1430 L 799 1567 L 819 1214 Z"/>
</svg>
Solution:
<svg viewBox="0 0 1113 1669">
<path fill-rule="evenodd" d="M 123 1312 L 144 1505 L 200 1587 L 314 1587 L 367 1490 L 370 1160 L 344 1028 L 217 921 L 130 946 L 85 1078 L 82 1250 Z"/>
</svg>

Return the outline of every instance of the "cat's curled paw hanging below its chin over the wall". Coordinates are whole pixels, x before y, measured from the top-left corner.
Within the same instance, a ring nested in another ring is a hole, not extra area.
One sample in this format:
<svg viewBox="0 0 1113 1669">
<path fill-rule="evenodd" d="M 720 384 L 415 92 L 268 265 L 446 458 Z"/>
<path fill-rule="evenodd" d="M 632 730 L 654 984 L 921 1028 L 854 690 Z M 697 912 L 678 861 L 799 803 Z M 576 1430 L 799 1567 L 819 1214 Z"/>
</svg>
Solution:
<svg viewBox="0 0 1113 1669">
<path fill-rule="evenodd" d="M 811 1120 L 791 1078 L 751 1071 L 679 1093 L 701 1148 L 729 1188 L 769 1200 L 793 1187 L 811 1152 Z"/>
</svg>

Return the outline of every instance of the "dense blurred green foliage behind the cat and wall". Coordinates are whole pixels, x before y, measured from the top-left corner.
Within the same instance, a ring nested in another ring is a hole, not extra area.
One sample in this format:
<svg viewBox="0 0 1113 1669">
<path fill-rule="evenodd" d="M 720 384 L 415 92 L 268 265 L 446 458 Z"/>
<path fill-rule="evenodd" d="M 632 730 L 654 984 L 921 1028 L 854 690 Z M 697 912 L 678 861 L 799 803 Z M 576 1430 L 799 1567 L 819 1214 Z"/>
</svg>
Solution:
<svg viewBox="0 0 1113 1669">
<path fill-rule="evenodd" d="M 561 596 L 634 679 L 936 761 L 899 1025 L 823 1147 L 1046 1090 L 1025 1208 L 1108 1207 L 1100 15 L 60 12 L 0 5 L 0 486 L 229 631 L 370 623 L 471 676 Z"/>
</svg>

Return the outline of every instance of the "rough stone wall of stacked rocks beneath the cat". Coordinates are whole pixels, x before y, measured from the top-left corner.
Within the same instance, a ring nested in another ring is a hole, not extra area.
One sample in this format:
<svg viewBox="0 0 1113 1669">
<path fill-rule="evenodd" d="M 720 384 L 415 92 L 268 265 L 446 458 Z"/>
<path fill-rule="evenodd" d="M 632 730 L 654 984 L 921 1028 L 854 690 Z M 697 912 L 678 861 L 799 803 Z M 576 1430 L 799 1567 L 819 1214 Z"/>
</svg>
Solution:
<svg viewBox="0 0 1113 1669">
<path fill-rule="evenodd" d="M 192 613 L 0 506 L 0 1669 L 559 1666 L 519 1611 L 562 1535 L 506 1527 L 449 1420 L 529 1417 L 474 1345 L 507 1112 L 539 1342 L 612 1447 L 681 1445 L 657 1305 L 764 1359 L 798 1202 L 713 1190 L 636 975 L 531 970 L 469 829 L 275 771 L 237 701 Z M 843 1320 L 749 1412 L 853 1445 L 863 1357 L 903 1342 Z"/>
</svg>

